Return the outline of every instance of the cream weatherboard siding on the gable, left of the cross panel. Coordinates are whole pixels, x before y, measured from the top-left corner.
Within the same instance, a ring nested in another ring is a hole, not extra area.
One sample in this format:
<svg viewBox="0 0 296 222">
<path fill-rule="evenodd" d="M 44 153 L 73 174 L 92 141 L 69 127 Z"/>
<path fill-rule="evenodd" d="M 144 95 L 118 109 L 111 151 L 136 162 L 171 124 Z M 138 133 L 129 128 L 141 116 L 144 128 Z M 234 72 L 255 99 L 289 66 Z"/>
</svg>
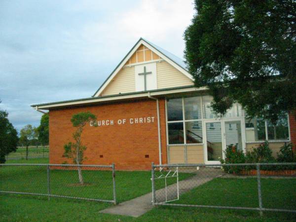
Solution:
<svg viewBox="0 0 296 222">
<path fill-rule="evenodd" d="M 135 67 L 123 67 L 102 92 L 102 96 L 135 91 Z"/>
</svg>

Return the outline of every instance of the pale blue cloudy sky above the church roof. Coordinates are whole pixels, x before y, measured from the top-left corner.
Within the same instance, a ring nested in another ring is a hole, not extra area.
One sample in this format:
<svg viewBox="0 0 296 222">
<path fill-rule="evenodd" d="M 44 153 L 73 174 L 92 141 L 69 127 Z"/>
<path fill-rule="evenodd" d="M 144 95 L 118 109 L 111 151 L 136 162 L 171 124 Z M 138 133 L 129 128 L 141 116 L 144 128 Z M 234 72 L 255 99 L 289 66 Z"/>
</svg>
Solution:
<svg viewBox="0 0 296 222">
<path fill-rule="evenodd" d="M 91 97 L 140 37 L 183 58 L 193 0 L 0 0 L 0 110 Z"/>
</svg>

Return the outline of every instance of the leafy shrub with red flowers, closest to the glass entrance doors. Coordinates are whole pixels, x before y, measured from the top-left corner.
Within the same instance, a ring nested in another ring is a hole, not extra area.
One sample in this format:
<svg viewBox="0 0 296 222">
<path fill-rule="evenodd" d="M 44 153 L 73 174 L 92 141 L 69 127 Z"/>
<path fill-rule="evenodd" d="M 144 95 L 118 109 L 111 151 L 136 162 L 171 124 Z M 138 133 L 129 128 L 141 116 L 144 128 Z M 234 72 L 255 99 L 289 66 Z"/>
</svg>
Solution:
<svg viewBox="0 0 296 222">
<path fill-rule="evenodd" d="M 223 163 L 245 163 L 246 162 L 246 157 L 243 151 L 237 150 L 236 145 L 229 145 L 226 150 L 224 151 L 225 153 L 225 160 L 220 160 L 220 162 Z M 242 170 L 244 170 L 244 166 L 223 166 L 223 170 L 226 173 L 232 174 L 239 174 Z"/>
</svg>

